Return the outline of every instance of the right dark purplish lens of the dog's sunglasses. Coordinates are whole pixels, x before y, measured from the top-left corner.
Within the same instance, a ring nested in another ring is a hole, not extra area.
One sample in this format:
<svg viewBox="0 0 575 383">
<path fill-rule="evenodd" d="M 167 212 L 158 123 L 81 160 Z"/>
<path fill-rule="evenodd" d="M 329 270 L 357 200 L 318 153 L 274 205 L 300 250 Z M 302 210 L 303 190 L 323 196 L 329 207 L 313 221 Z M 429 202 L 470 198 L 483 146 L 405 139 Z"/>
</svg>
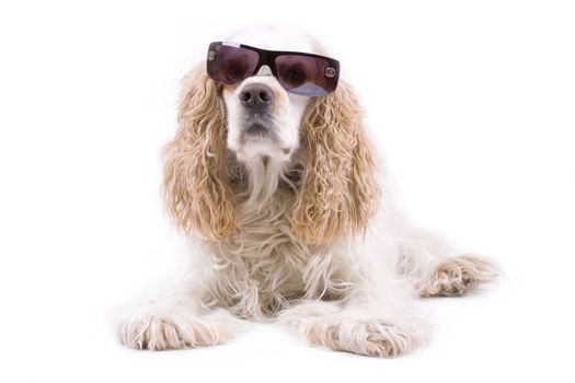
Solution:
<svg viewBox="0 0 575 383">
<path fill-rule="evenodd" d="M 325 59 L 281 55 L 276 57 L 275 65 L 279 83 L 290 93 L 321 96 L 337 85 L 336 72 Z"/>
</svg>

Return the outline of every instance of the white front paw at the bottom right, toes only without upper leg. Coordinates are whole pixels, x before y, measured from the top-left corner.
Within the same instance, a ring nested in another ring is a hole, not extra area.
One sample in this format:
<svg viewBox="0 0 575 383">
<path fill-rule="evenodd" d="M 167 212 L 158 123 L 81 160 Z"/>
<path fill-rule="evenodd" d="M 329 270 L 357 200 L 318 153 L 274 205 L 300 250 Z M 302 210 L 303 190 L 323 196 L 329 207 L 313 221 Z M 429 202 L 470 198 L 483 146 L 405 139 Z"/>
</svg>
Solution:
<svg viewBox="0 0 575 383">
<path fill-rule="evenodd" d="M 368 357 L 394 358 L 425 341 L 425 327 L 423 324 L 419 330 L 407 332 L 378 320 L 317 321 L 302 324 L 300 330 L 312 345 Z"/>
</svg>

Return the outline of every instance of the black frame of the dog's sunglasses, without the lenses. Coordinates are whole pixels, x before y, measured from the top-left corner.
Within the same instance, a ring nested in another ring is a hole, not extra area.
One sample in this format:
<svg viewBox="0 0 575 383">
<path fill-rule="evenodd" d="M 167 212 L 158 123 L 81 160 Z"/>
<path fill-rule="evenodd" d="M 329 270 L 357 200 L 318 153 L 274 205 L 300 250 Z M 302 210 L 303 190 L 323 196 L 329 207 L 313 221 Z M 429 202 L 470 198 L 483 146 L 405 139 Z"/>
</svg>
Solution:
<svg viewBox="0 0 575 383">
<path fill-rule="evenodd" d="M 279 76 L 277 73 L 276 62 L 275 62 L 275 60 L 276 60 L 276 58 L 278 56 L 294 55 L 294 56 L 304 56 L 304 57 L 323 59 L 323 60 L 327 61 L 327 65 L 329 65 L 325 68 L 324 72 L 323 72 L 323 76 L 325 76 L 327 79 L 330 79 L 330 81 L 333 81 L 334 85 L 333 85 L 333 89 L 330 89 L 330 90 L 326 90 L 326 89 L 323 89 L 323 88 L 322 89 L 325 91 L 325 93 L 333 92 L 333 91 L 335 91 L 337 89 L 337 82 L 340 80 L 340 61 L 337 61 L 336 59 L 333 59 L 333 58 L 326 57 L 326 56 L 310 54 L 310 53 L 307 53 L 307 51 L 267 50 L 267 49 L 256 48 L 256 47 L 253 47 L 251 45 L 238 44 L 238 43 L 231 43 L 231 42 L 214 42 L 214 43 L 209 44 L 208 54 L 207 54 L 207 65 L 206 65 L 206 67 L 207 67 L 206 69 L 208 71 L 208 74 L 209 74 L 209 62 L 212 61 L 216 58 L 216 55 L 217 55 L 216 54 L 216 48 L 218 46 L 228 46 L 228 47 L 232 47 L 232 48 L 243 48 L 243 49 L 249 49 L 249 50 L 255 51 L 258 55 L 258 61 L 257 61 L 257 65 L 255 66 L 255 69 L 253 70 L 253 72 L 250 73 L 248 77 L 254 76 L 255 73 L 257 73 L 260 68 L 262 68 L 263 66 L 267 66 L 272 70 L 272 74 L 276 79 L 278 79 L 279 84 L 281 84 L 281 81 L 279 80 Z M 211 76 L 210 76 L 210 78 L 211 78 Z M 215 80 L 215 81 L 218 81 L 218 82 L 227 83 L 227 82 L 218 80 L 218 79 L 214 79 L 214 78 L 211 78 L 211 79 Z M 243 81 L 243 80 L 240 80 L 240 81 L 233 82 L 233 83 L 228 83 L 228 84 L 229 85 L 233 85 L 233 84 L 237 84 L 237 83 L 239 83 L 241 81 Z M 281 86 L 284 88 L 283 84 L 281 84 Z M 286 89 L 286 88 L 284 88 L 284 89 L 287 92 L 290 91 L 290 89 Z"/>
</svg>

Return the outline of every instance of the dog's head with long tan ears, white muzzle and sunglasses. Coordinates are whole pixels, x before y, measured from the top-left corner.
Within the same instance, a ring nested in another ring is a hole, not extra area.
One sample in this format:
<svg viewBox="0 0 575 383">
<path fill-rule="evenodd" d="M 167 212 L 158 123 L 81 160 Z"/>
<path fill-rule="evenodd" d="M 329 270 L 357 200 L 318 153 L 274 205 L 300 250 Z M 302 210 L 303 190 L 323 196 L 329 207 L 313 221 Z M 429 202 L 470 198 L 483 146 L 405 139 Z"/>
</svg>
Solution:
<svg viewBox="0 0 575 383">
<path fill-rule="evenodd" d="M 379 188 L 361 111 L 349 85 L 337 84 L 338 62 L 298 31 L 250 28 L 229 40 L 211 44 L 183 82 L 180 128 L 164 151 L 176 222 L 208 240 L 235 232 L 231 153 L 278 176 L 302 167 L 291 220 L 300 240 L 320 244 L 364 229 Z"/>
</svg>

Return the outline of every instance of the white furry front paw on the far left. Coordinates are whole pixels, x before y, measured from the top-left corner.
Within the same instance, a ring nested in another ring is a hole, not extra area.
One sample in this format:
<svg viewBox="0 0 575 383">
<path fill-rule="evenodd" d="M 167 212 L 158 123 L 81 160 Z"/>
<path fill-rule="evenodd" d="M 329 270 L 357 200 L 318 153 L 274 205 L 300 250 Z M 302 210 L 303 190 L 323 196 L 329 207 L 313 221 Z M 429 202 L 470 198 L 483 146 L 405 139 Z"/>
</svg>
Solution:
<svg viewBox="0 0 575 383">
<path fill-rule="evenodd" d="M 117 338 L 134 349 L 175 350 L 222 343 L 217 328 L 197 318 L 179 315 L 141 315 L 122 323 Z"/>
</svg>

